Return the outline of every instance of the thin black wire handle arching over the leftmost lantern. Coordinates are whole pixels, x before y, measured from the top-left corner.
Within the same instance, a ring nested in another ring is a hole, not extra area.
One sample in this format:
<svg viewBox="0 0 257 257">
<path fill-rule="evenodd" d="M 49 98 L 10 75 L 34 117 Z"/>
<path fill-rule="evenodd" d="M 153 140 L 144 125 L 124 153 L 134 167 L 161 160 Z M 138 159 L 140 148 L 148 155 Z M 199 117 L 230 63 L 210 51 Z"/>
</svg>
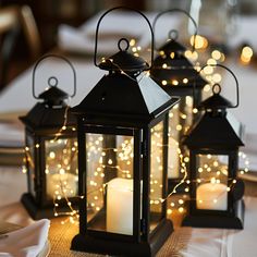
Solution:
<svg viewBox="0 0 257 257">
<path fill-rule="evenodd" d="M 63 61 L 65 61 L 72 69 L 72 73 L 73 73 L 73 81 L 74 81 L 74 88 L 73 88 L 73 94 L 70 95 L 70 97 L 74 97 L 76 95 L 76 72 L 75 72 L 75 69 L 73 66 L 73 64 L 71 63 L 71 61 L 69 61 L 66 58 L 62 57 L 62 56 L 58 56 L 58 54 L 54 54 L 54 53 L 49 53 L 49 54 L 45 54 L 42 56 L 41 58 L 39 58 L 33 69 L 33 78 L 32 78 L 32 83 L 33 83 L 33 97 L 35 99 L 39 99 L 38 96 L 36 96 L 36 93 L 35 93 L 35 76 L 36 76 L 36 70 L 39 65 L 39 63 L 41 61 L 44 61 L 45 59 L 47 58 L 59 58 L 59 59 L 62 59 Z M 51 85 L 52 84 L 52 85 Z M 50 86 L 57 86 L 58 85 L 58 78 L 56 76 L 50 76 L 48 78 L 48 85 Z"/>
</svg>

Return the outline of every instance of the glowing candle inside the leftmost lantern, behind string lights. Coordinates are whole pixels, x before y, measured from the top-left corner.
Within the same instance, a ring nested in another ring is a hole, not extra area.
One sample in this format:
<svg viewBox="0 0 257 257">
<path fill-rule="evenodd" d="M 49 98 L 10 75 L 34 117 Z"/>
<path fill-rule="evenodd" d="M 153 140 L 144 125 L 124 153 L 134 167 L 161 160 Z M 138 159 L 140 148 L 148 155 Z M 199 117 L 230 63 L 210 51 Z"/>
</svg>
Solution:
<svg viewBox="0 0 257 257">
<path fill-rule="evenodd" d="M 64 173 L 64 174 L 46 174 L 47 176 L 47 195 L 50 198 L 53 198 L 56 193 L 59 192 L 63 196 L 63 189 L 65 189 L 66 197 L 74 197 L 77 193 L 77 181 L 78 178 L 76 174 Z"/>
</svg>

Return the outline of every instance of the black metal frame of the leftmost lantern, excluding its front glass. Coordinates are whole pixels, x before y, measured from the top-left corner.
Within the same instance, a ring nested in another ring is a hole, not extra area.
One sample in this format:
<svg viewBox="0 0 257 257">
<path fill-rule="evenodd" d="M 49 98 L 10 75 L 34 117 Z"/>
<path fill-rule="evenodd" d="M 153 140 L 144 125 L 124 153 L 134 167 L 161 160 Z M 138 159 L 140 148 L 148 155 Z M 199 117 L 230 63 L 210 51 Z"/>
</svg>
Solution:
<svg viewBox="0 0 257 257">
<path fill-rule="evenodd" d="M 66 58 L 58 54 L 46 54 L 37 60 L 33 69 L 33 96 L 35 99 L 44 99 L 44 101 L 37 102 L 26 115 L 20 117 L 20 120 L 25 124 L 25 157 L 28 188 L 28 192 L 22 195 L 21 201 L 32 218 L 36 220 L 56 216 L 53 211 L 53 199 L 47 197 L 45 143 L 47 140 L 53 140 L 54 138 L 76 139 L 76 132 L 74 131 L 76 126 L 75 117 L 69 110 L 70 107 L 63 101 L 68 95 L 57 88 L 58 78 L 54 76 L 48 78 L 50 90 L 46 90 L 39 96 L 35 93 L 37 68 L 48 58 L 61 59 L 69 64 L 72 70 L 74 82 L 74 90 L 70 97 L 74 97 L 76 94 L 75 69 Z M 52 108 L 56 105 L 58 105 L 59 108 Z M 65 130 L 62 130 L 63 125 L 66 126 Z M 29 150 L 33 151 L 33 155 L 29 154 Z M 33 163 L 34 167 L 32 167 L 30 163 Z M 77 196 L 69 197 L 69 201 L 73 205 L 77 205 Z M 70 210 L 66 199 L 62 198 L 58 200 L 58 210 L 60 212 Z"/>
</svg>

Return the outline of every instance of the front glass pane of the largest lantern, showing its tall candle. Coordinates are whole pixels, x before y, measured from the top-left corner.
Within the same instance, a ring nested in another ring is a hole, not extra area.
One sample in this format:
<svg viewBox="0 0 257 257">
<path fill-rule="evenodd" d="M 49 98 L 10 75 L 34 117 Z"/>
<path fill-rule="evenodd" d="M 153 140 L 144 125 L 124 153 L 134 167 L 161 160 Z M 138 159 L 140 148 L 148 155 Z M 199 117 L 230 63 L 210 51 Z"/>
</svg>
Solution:
<svg viewBox="0 0 257 257">
<path fill-rule="evenodd" d="M 133 234 L 134 138 L 86 133 L 87 228 Z"/>
</svg>

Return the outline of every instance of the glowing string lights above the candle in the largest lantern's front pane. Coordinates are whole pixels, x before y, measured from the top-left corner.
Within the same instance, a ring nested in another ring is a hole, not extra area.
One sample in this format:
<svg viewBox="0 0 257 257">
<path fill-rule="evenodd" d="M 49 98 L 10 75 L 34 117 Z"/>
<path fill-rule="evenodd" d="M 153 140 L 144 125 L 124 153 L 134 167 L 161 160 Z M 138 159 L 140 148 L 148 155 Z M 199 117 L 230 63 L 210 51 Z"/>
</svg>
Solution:
<svg viewBox="0 0 257 257">
<path fill-rule="evenodd" d="M 115 138 L 115 139 L 114 139 Z M 113 140 L 115 147 L 106 147 L 106 140 Z M 114 178 L 132 179 L 133 137 L 87 134 L 87 209 L 88 213 L 98 212 L 103 207 L 106 187 Z"/>
</svg>

